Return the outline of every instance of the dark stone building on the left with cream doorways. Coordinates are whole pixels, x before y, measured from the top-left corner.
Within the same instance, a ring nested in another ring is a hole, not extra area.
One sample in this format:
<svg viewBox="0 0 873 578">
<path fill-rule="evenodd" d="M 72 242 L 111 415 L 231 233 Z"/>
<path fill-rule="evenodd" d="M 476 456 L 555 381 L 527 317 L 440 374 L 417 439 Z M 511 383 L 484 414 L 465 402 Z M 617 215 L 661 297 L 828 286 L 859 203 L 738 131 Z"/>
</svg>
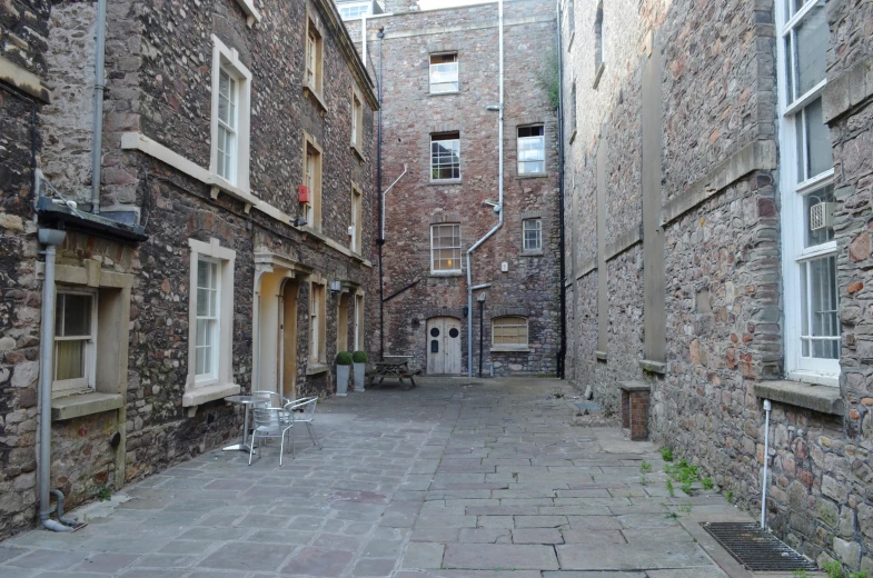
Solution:
<svg viewBox="0 0 873 578">
<path fill-rule="evenodd" d="M 228 395 L 335 391 L 373 345 L 378 103 L 327 0 L 9 0 L 0 40 L 2 538 L 41 468 L 78 504 L 237 437 Z"/>
</svg>

